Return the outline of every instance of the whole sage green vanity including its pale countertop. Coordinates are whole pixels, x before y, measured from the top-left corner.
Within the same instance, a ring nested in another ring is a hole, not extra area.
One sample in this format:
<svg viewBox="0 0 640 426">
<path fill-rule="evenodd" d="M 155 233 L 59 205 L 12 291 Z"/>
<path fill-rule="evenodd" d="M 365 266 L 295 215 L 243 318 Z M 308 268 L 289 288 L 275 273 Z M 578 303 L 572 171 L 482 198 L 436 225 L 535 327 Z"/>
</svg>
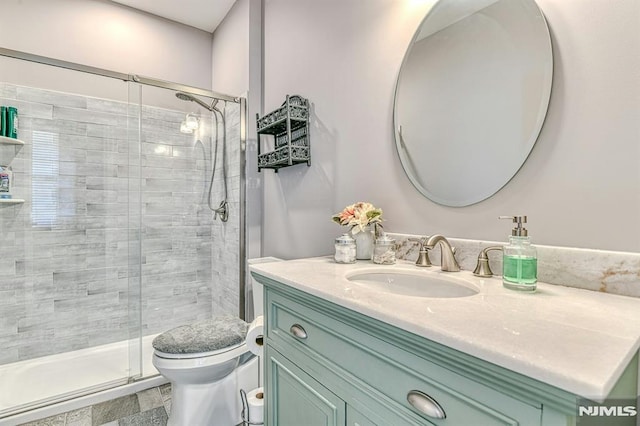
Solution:
<svg viewBox="0 0 640 426">
<path fill-rule="evenodd" d="M 406 265 L 390 268 L 414 273 Z M 543 284 L 540 294 L 519 295 L 494 279 L 477 280 L 477 293 L 471 296 L 438 299 L 369 290 L 349 281 L 350 274 L 375 271 L 367 263 L 336 265 L 328 258 L 315 258 L 256 265 L 251 270 L 265 287 L 268 426 L 564 426 L 576 423 L 581 392 L 594 399 L 637 395 L 640 336 L 630 336 L 627 330 L 614 331 L 614 335 L 626 335 L 608 341 L 600 330 L 592 331 L 593 338 L 583 339 L 572 329 L 573 336 L 567 336 L 573 339 L 567 343 L 572 351 L 591 351 L 584 354 L 582 367 L 592 368 L 590 362 L 597 365 L 594 357 L 608 363 L 613 357 L 622 358 L 616 366 L 603 365 L 584 377 L 577 373 L 578 377 L 570 377 L 570 365 L 580 361 L 568 353 L 569 364 L 560 366 L 562 371 L 554 370 L 558 363 L 551 358 L 556 353 L 562 356 L 563 350 L 552 334 L 536 332 L 535 338 L 540 345 L 546 341 L 555 348 L 541 346 L 539 352 L 529 353 L 524 345 L 527 353 L 522 355 L 518 348 L 506 347 L 519 341 L 517 335 L 514 339 L 510 335 L 522 333 L 527 319 L 509 321 L 504 315 L 521 316 L 518 311 L 527 305 L 532 310 L 525 315 L 531 320 L 540 314 L 535 312 L 539 301 L 527 301 L 527 297 L 547 298 L 548 303 L 577 298 L 549 321 L 570 322 L 569 318 L 578 317 L 575 321 L 588 326 L 589 313 L 571 310 L 574 306 L 589 309 L 594 294 L 586 293 L 593 292 Z M 640 308 L 640 301 L 633 298 L 596 296 L 609 305 L 618 303 L 613 307 L 616 311 L 632 314 L 634 306 Z M 501 304 L 507 306 L 500 308 Z M 469 318 L 468 327 L 460 327 Z M 612 325 L 619 320 L 612 319 Z M 630 327 L 640 328 L 634 321 Z M 513 329 L 505 331 L 508 324 Z M 484 333 L 479 333 L 483 328 Z M 523 334 L 527 338 L 526 330 Z M 596 346 L 580 347 L 589 341 Z M 595 352 L 598 345 L 607 345 L 601 348 L 604 355 Z"/>
</svg>

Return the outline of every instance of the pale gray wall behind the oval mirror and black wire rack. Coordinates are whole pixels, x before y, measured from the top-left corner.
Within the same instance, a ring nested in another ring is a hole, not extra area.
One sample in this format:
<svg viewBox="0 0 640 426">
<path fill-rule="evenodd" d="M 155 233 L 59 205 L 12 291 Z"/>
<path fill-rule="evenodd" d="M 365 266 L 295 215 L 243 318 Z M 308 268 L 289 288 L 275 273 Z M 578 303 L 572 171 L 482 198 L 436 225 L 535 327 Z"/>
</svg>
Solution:
<svg viewBox="0 0 640 426">
<path fill-rule="evenodd" d="M 503 214 L 529 215 L 534 243 L 640 250 L 640 3 L 539 0 L 554 47 L 549 113 L 531 156 L 492 198 L 464 208 L 422 197 L 395 152 L 395 79 L 432 2 L 265 0 L 265 109 L 313 104 L 312 165 L 263 172 L 265 255 L 327 254 L 355 201 L 385 228 L 505 241 Z"/>
</svg>

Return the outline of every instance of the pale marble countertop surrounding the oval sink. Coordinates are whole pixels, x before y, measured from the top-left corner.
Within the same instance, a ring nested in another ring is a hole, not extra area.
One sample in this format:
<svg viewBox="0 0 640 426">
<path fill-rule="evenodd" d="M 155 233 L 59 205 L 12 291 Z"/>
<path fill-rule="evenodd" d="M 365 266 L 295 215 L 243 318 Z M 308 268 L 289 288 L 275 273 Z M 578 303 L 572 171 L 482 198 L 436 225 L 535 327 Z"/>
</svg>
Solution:
<svg viewBox="0 0 640 426">
<path fill-rule="evenodd" d="M 602 401 L 640 347 L 640 299 L 538 282 L 533 294 L 507 290 L 500 277 L 442 272 L 400 261 L 337 264 L 332 257 L 254 264 L 251 271 L 434 342 Z M 459 298 L 411 297 L 347 280 L 378 269 L 444 274 L 479 292 Z"/>
</svg>

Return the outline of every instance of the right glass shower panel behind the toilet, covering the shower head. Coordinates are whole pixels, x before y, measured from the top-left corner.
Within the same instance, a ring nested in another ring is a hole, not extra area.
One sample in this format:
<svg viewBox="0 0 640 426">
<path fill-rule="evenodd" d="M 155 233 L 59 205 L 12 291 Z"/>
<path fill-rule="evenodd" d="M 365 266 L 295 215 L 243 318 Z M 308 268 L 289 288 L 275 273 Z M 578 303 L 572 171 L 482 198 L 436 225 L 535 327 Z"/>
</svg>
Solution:
<svg viewBox="0 0 640 426">
<path fill-rule="evenodd" d="M 136 379 L 158 374 L 151 342 L 159 333 L 238 314 L 241 110 L 137 83 L 129 83 L 129 108 L 129 352 Z M 223 200 L 226 222 L 214 212 Z"/>
</svg>

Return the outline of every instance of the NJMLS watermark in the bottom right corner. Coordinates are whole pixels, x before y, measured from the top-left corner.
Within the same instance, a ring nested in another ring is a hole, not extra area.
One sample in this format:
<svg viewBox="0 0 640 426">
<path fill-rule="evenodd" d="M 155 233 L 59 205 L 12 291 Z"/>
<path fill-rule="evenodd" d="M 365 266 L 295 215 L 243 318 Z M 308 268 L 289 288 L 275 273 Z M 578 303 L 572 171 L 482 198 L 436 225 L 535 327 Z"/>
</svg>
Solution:
<svg viewBox="0 0 640 426">
<path fill-rule="evenodd" d="M 638 399 L 610 399 L 597 403 L 578 400 L 577 426 L 635 426 L 638 420 Z"/>
</svg>

